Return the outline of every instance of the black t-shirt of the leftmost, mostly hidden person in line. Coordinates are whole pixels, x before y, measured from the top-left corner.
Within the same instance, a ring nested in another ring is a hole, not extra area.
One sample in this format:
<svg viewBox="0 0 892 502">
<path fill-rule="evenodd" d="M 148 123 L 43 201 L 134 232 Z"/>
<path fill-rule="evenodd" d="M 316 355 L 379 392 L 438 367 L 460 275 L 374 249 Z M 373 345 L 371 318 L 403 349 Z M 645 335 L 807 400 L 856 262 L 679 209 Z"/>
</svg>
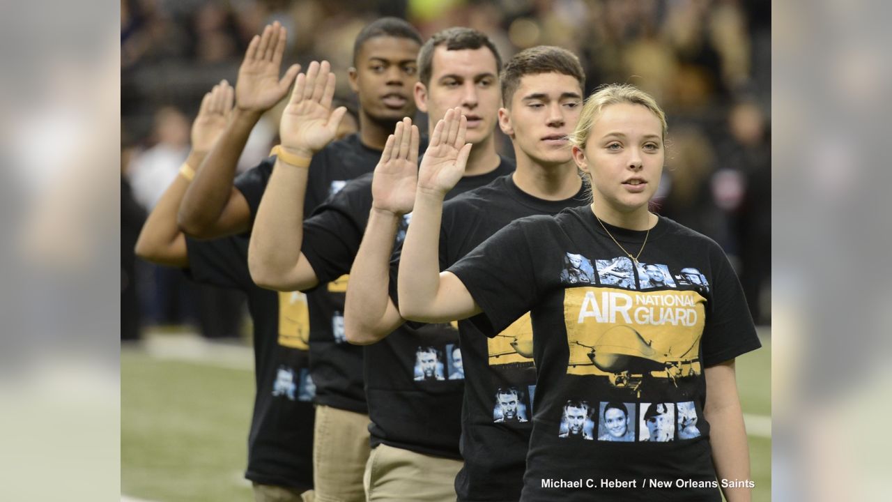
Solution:
<svg viewBox="0 0 892 502">
<path fill-rule="evenodd" d="M 186 238 L 186 246 L 186 272 L 194 280 L 240 289 L 248 297 L 254 325 L 256 397 L 245 477 L 261 484 L 312 488 L 315 388 L 307 351 L 307 297 L 255 286 L 248 272 L 244 236 Z"/>
</svg>

